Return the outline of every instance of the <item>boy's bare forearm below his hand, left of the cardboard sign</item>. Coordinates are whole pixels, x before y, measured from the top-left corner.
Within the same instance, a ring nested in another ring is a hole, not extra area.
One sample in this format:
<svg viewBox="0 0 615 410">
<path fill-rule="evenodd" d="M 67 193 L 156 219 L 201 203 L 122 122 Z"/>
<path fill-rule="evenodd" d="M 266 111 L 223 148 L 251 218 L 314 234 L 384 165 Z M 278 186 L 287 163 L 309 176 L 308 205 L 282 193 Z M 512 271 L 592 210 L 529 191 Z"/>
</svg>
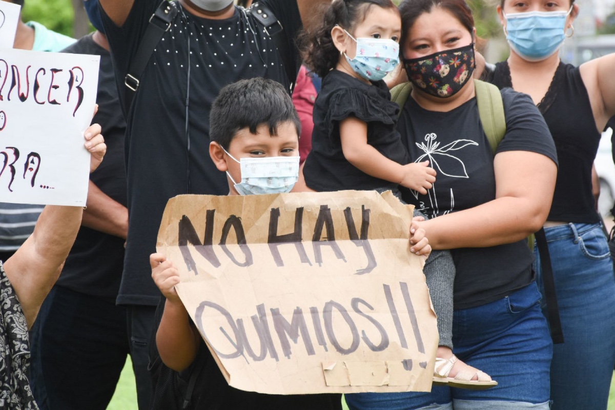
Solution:
<svg viewBox="0 0 615 410">
<path fill-rule="evenodd" d="M 164 364 L 175 371 L 186 369 L 196 357 L 197 337 L 183 304 L 167 300 L 156 333 L 158 353 Z"/>
</svg>

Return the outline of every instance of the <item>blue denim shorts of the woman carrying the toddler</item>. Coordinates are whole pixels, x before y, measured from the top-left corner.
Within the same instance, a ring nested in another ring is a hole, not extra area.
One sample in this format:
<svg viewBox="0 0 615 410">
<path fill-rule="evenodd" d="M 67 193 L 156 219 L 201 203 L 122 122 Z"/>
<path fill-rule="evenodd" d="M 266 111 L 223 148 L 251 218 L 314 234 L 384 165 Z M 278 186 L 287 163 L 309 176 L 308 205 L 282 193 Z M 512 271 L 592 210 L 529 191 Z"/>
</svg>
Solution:
<svg viewBox="0 0 615 410">
<path fill-rule="evenodd" d="M 467 390 L 434 386 L 431 393 L 357 393 L 346 395 L 346 403 L 352 410 L 549 409 L 553 344 L 540 301 L 533 282 L 506 298 L 455 310 L 454 353 L 490 374 L 498 381 L 497 387 Z"/>
</svg>

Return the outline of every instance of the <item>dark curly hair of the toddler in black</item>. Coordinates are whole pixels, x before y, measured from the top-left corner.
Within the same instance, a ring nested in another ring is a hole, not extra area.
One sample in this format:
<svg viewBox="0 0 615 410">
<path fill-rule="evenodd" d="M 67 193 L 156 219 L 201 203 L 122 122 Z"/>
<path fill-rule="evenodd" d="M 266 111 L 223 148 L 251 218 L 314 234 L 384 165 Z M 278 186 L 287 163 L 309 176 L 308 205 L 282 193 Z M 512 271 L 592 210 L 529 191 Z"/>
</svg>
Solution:
<svg viewBox="0 0 615 410">
<path fill-rule="evenodd" d="M 314 30 L 304 31 L 298 38 L 305 65 L 318 76 L 326 76 L 339 61 L 339 50 L 333 44 L 331 30 L 336 25 L 348 31 L 354 30 L 357 24 L 365 20 L 372 6 L 397 10 L 391 0 L 333 0 L 322 22 Z"/>
</svg>

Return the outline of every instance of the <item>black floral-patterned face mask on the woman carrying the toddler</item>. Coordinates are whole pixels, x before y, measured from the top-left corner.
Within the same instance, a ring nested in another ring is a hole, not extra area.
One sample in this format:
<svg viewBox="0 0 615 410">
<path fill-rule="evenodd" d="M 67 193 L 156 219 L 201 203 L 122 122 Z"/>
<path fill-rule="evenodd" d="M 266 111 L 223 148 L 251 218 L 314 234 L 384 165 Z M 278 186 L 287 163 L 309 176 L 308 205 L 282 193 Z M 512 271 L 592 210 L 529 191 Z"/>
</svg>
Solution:
<svg viewBox="0 0 615 410">
<path fill-rule="evenodd" d="M 408 79 L 419 90 L 435 97 L 455 95 L 474 71 L 474 43 L 426 57 L 403 60 Z"/>
</svg>

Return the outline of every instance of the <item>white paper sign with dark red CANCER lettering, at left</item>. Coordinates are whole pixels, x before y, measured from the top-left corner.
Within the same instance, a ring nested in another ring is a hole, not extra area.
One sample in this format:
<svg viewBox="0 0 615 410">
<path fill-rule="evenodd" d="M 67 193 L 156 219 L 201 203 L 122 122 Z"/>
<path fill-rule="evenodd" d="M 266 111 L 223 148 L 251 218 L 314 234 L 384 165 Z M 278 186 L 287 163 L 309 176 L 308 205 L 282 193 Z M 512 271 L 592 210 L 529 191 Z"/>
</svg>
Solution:
<svg viewBox="0 0 615 410">
<path fill-rule="evenodd" d="M 85 205 L 99 60 L 0 50 L 0 202 Z"/>
</svg>

